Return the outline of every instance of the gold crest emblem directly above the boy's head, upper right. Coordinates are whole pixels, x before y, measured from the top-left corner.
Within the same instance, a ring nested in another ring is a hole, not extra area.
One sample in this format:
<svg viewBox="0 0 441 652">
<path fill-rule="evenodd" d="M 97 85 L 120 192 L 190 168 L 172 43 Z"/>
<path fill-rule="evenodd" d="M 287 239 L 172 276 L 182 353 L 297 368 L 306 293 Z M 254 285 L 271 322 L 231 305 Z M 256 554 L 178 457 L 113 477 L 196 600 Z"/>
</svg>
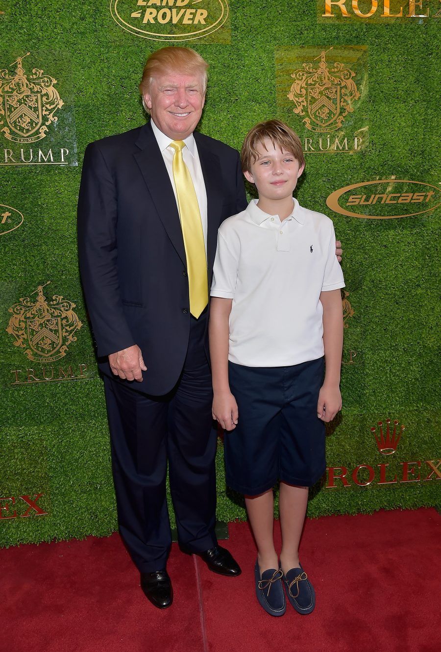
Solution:
<svg viewBox="0 0 441 652">
<path fill-rule="evenodd" d="M 332 49 L 331 47 L 330 50 Z M 294 70 L 291 74 L 294 83 L 288 94 L 288 98 L 296 105 L 294 113 L 305 115 L 306 108 L 309 117 L 303 122 L 307 129 L 320 133 L 339 129 L 345 116 L 354 111 L 354 100 L 360 98 L 352 79 L 355 72 L 338 61 L 333 68 L 326 63 L 325 55 L 330 50 L 322 51 L 314 59 L 320 59 L 318 66 L 304 63 L 302 68 Z"/>
</svg>

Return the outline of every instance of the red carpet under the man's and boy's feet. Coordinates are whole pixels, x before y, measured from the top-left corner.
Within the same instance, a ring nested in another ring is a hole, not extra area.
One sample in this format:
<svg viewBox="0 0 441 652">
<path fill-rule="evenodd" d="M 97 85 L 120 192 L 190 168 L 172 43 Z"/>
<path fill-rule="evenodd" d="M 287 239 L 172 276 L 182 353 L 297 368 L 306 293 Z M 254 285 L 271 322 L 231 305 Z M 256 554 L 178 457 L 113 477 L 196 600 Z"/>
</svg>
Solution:
<svg viewBox="0 0 441 652">
<path fill-rule="evenodd" d="M 308 520 L 302 565 L 311 615 L 272 618 L 253 594 L 247 524 L 223 542 L 239 578 L 212 574 L 173 544 L 175 602 L 139 588 L 118 535 L 0 550 L 1 652 L 434 652 L 439 649 L 441 516 L 434 509 Z M 279 527 L 276 524 L 277 538 Z"/>
</svg>

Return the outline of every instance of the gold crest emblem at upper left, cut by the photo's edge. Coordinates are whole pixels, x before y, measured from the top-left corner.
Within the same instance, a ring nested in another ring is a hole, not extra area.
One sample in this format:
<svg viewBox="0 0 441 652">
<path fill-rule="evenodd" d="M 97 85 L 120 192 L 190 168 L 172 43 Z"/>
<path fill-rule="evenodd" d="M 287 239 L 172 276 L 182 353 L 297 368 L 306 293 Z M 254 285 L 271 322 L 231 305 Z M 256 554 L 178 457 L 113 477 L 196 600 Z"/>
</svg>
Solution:
<svg viewBox="0 0 441 652">
<path fill-rule="evenodd" d="M 57 89 L 57 80 L 33 68 L 27 75 L 21 62 L 27 55 L 18 57 L 9 68 L 17 65 L 15 74 L 0 70 L 0 125 L 8 140 L 16 143 L 34 143 L 46 136 L 48 125 L 57 122 L 55 111 L 63 106 Z M 44 124 L 43 124 L 44 123 Z"/>
</svg>

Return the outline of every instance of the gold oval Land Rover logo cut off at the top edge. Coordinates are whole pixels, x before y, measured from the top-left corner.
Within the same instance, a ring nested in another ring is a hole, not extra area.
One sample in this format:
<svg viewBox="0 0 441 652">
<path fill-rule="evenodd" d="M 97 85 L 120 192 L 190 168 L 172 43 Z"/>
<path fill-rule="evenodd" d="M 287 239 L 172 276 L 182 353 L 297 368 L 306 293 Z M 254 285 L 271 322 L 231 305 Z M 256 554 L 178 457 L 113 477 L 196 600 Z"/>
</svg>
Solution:
<svg viewBox="0 0 441 652">
<path fill-rule="evenodd" d="M 111 0 L 113 20 L 141 38 L 163 41 L 206 37 L 228 18 L 227 0 Z"/>
</svg>

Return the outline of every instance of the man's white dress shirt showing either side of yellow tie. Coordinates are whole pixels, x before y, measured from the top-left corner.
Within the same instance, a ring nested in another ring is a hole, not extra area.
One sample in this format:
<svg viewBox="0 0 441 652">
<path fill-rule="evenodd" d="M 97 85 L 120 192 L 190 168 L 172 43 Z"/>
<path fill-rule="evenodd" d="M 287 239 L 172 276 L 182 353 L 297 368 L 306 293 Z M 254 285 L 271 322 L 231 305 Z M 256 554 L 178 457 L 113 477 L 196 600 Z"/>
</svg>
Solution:
<svg viewBox="0 0 441 652">
<path fill-rule="evenodd" d="M 173 179 L 173 155 L 175 150 L 173 147 L 170 147 L 170 143 L 173 142 L 172 138 L 165 136 L 160 129 L 155 125 L 155 123 L 150 120 L 152 125 L 152 130 L 154 137 L 159 145 L 161 150 L 162 158 L 164 158 L 165 167 L 169 173 L 171 185 L 173 186 L 173 192 L 175 193 L 176 203 L 178 203 L 176 188 L 175 188 L 175 179 Z M 201 213 L 202 220 L 202 230 L 204 232 L 204 243 L 205 243 L 205 253 L 206 253 L 206 223 L 207 223 L 207 209 L 206 209 L 206 190 L 204 177 L 202 175 L 201 161 L 199 160 L 199 154 L 197 152 L 196 142 L 193 134 L 190 134 L 188 138 L 184 139 L 186 147 L 182 149 L 182 158 L 184 163 L 190 171 L 190 176 L 192 177 L 193 186 L 195 186 L 197 203 L 199 204 L 199 212 Z"/>
</svg>

